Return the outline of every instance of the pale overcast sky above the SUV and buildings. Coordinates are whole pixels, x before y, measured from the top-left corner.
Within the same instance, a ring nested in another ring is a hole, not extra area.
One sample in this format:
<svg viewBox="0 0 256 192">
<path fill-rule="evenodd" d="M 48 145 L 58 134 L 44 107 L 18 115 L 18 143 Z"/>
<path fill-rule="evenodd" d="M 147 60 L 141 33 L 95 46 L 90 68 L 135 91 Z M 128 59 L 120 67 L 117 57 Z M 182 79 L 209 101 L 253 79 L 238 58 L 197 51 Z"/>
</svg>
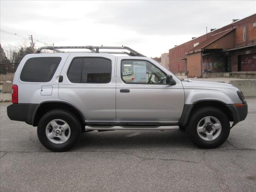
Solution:
<svg viewBox="0 0 256 192">
<path fill-rule="evenodd" d="M 159 57 L 174 45 L 256 13 L 253 1 L 0 1 L 0 43 L 128 46 Z"/>
</svg>

